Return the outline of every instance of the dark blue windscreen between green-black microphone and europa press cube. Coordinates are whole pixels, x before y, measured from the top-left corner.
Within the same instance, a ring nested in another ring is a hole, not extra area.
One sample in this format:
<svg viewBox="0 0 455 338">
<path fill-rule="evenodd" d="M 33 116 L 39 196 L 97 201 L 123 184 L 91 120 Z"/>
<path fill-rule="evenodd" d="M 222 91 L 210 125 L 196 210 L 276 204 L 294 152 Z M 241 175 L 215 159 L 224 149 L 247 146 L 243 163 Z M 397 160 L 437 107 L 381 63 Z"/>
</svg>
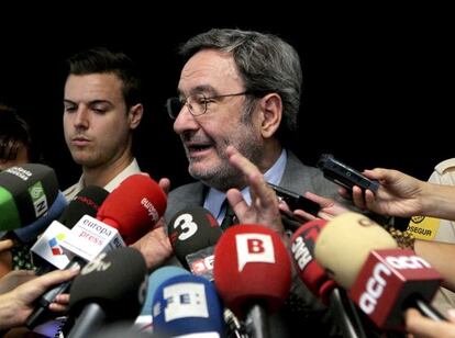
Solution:
<svg viewBox="0 0 455 338">
<path fill-rule="evenodd" d="M 58 192 L 57 198 L 47 213 L 32 224 L 15 229 L 15 236 L 23 243 L 36 240 L 37 236 L 43 233 L 53 221 L 60 216 L 67 204 L 65 195 L 62 192 Z"/>
</svg>

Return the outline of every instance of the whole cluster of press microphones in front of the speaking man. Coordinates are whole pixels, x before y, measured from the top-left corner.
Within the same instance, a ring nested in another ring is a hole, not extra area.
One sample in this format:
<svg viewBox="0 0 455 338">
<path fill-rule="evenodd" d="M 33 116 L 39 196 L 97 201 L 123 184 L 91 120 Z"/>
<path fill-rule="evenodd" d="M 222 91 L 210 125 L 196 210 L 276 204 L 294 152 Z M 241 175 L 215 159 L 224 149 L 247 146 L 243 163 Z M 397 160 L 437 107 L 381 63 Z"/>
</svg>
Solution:
<svg viewBox="0 0 455 338">
<path fill-rule="evenodd" d="M 149 273 L 129 245 L 165 210 L 166 194 L 145 174 L 111 193 L 87 187 L 67 203 L 47 166 L 2 171 L 1 238 L 31 245 L 37 274 L 81 268 L 41 296 L 26 326 L 42 333 L 55 325 L 55 335 L 70 338 L 270 337 L 268 318 L 284 305 L 295 275 L 336 311 L 345 337 L 368 337 L 366 320 L 382 331 L 402 330 L 409 307 L 445 320 L 430 305 L 441 275 L 365 215 L 303 223 L 286 247 L 260 224 L 223 233 L 209 211 L 185 209 L 166 225 L 178 263 Z M 62 293 L 70 295 L 69 309 L 56 317 L 48 304 Z"/>
</svg>

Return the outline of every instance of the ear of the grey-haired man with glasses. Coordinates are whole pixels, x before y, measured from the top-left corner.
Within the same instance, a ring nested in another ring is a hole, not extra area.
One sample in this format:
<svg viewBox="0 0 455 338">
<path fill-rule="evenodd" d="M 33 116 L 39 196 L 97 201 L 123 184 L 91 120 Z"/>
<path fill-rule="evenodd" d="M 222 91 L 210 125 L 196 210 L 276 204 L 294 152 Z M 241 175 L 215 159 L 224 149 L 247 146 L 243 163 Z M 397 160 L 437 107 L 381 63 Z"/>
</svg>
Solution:
<svg viewBox="0 0 455 338">
<path fill-rule="evenodd" d="M 279 127 L 282 115 L 282 101 L 277 93 L 269 93 L 260 99 L 263 121 L 260 125 L 264 138 L 271 137 Z"/>
</svg>

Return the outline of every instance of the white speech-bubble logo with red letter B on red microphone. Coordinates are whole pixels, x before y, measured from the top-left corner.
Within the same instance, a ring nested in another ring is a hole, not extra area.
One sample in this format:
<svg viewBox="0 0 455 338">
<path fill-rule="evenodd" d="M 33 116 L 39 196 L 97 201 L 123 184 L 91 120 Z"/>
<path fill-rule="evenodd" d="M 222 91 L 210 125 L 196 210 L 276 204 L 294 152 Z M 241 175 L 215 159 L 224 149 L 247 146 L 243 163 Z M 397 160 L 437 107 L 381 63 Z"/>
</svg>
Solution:
<svg viewBox="0 0 455 338">
<path fill-rule="evenodd" d="M 275 263 L 274 245 L 270 235 L 237 234 L 235 235 L 237 248 L 238 272 L 248 262 Z"/>
</svg>

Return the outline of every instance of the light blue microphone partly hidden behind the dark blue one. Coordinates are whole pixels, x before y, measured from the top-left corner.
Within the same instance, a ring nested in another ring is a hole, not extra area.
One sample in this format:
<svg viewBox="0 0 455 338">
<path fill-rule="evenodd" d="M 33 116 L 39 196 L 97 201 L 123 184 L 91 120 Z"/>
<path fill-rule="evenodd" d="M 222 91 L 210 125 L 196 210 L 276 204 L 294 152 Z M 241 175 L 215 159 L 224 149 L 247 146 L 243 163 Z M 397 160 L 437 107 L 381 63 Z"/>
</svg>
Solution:
<svg viewBox="0 0 455 338">
<path fill-rule="evenodd" d="M 146 331 L 152 334 L 152 303 L 158 286 L 166 280 L 180 275 L 189 274 L 189 272 L 179 267 L 162 267 L 155 270 L 148 278 L 147 296 L 144 305 L 142 306 L 141 314 L 134 322 L 134 326 L 140 331 Z"/>
</svg>

